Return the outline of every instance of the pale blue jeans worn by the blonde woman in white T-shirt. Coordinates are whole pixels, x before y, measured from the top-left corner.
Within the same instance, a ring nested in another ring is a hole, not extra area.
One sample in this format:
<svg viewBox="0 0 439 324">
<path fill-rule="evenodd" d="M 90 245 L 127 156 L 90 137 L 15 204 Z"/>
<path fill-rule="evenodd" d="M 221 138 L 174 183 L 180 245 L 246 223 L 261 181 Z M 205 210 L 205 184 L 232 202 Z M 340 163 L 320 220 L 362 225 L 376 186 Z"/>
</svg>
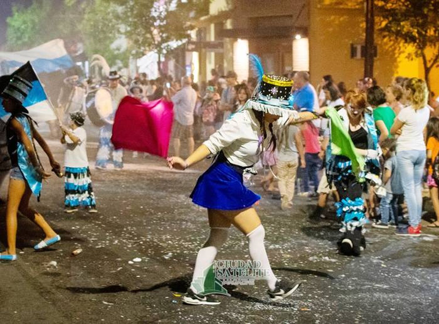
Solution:
<svg viewBox="0 0 439 324">
<path fill-rule="evenodd" d="M 396 153 L 404 197 L 407 201 L 409 224 L 416 227 L 422 215 L 422 173 L 426 159 L 425 150 L 399 151 Z"/>
</svg>

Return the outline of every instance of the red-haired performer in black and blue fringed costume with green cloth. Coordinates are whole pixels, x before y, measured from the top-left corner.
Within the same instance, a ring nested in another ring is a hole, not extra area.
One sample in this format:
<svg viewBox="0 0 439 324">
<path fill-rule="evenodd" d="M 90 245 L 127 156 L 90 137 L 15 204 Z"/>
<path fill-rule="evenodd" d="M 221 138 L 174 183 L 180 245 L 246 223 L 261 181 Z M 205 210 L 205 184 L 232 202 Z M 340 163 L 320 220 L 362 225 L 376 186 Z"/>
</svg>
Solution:
<svg viewBox="0 0 439 324">
<path fill-rule="evenodd" d="M 337 216 L 342 222 L 343 236 L 338 242 L 339 250 L 345 255 L 358 256 L 366 247 L 363 236 L 364 215 L 363 193 L 366 180 L 379 181 L 380 164 L 378 135 L 374 118 L 366 111 L 366 94 L 358 89 L 346 95 L 346 105 L 338 112 L 328 108 L 331 118 L 331 143 L 327 154 L 327 178 L 334 182 L 340 201 L 335 204 Z"/>
</svg>

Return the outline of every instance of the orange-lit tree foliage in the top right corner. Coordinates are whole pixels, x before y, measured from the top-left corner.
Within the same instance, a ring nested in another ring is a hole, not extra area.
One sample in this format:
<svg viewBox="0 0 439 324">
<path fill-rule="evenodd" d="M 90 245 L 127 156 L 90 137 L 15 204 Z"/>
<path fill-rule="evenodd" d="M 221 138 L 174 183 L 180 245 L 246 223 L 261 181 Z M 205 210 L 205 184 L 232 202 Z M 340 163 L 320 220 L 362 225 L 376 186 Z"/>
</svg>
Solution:
<svg viewBox="0 0 439 324">
<path fill-rule="evenodd" d="M 378 31 L 403 46 L 414 47 L 408 58 L 422 58 L 429 85 L 430 71 L 439 63 L 439 0 L 380 0 L 375 6 L 381 26 Z"/>
</svg>

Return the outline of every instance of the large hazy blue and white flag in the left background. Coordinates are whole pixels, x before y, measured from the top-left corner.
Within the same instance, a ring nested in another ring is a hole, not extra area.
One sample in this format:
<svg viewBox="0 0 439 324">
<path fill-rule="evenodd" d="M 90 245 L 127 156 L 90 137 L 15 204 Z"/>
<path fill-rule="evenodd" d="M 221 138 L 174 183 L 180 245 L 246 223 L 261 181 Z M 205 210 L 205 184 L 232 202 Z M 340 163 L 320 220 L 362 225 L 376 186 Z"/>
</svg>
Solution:
<svg viewBox="0 0 439 324">
<path fill-rule="evenodd" d="M 0 67 L 4 74 L 10 74 L 16 68 L 30 61 L 36 73 L 68 70 L 73 67 L 62 39 L 54 39 L 40 46 L 19 52 L 0 52 Z"/>
</svg>

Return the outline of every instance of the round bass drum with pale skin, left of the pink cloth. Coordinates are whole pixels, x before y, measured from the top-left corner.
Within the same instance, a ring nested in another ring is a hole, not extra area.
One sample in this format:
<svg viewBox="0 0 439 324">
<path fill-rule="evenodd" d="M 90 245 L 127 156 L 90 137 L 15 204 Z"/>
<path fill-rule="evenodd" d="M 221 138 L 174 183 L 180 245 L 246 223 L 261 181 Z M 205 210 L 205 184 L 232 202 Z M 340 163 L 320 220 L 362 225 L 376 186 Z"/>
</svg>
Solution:
<svg viewBox="0 0 439 324">
<path fill-rule="evenodd" d="M 95 126 L 102 127 L 108 124 L 104 118 L 113 113 L 113 102 L 107 88 L 98 88 L 87 93 L 85 106 L 87 116 Z"/>
</svg>

